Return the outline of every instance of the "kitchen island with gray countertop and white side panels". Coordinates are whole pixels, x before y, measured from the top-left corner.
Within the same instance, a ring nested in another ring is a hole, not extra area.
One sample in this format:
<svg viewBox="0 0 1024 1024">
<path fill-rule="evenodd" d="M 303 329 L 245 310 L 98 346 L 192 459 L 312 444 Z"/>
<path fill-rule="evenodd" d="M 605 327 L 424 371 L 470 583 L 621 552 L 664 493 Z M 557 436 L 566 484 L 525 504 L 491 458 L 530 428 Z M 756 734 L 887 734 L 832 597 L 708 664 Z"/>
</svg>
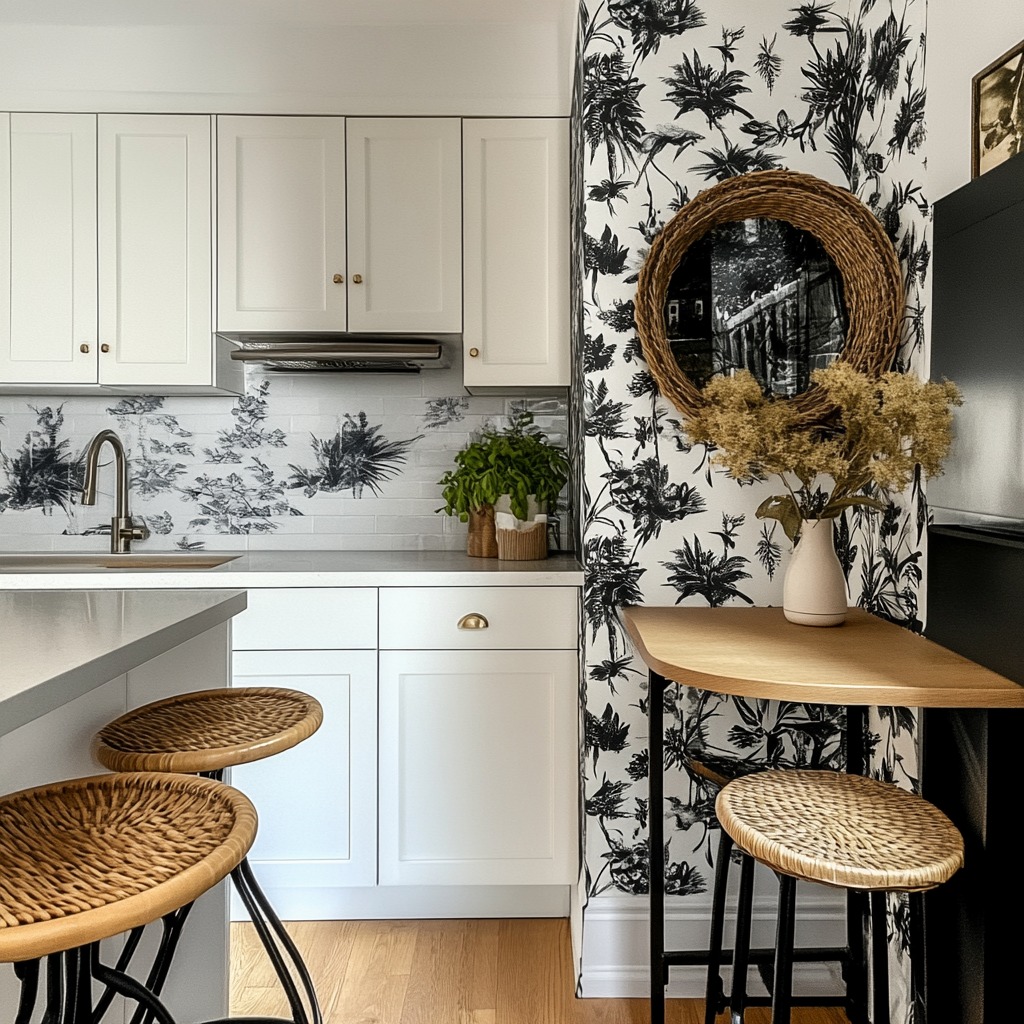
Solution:
<svg viewBox="0 0 1024 1024">
<path fill-rule="evenodd" d="M 160 697 L 227 686 L 229 623 L 246 603 L 238 590 L 0 592 L 3 792 L 98 774 L 92 741 L 108 722 Z M 227 1014 L 227 908 L 225 883 L 193 908 L 165 990 L 179 1024 Z M 148 962 L 154 939 L 136 963 Z M 16 992 L 3 969 L 5 1019 Z"/>
</svg>

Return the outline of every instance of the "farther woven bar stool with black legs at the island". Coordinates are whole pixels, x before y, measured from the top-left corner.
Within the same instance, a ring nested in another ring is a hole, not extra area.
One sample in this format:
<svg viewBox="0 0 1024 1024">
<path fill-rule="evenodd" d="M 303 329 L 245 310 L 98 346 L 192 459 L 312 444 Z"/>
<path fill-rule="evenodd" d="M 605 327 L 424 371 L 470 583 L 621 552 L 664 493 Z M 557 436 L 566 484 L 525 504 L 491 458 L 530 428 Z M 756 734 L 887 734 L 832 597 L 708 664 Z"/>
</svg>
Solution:
<svg viewBox="0 0 1024 1024">
<path fill-rule="evenodd" d="M 323 720 L 319 701 L 300 690 L 264 686 L 194 690 L 115 719 L 96 734 L 93 753 L 112 771 L 186 772 L 222 779 L 225 769 L 302 742 Z M 309 972 L 247 858 L 231 871 L 231 882 L 288 997 L 291 1021 L 321 1024 Z M 158 992 L 162 983 L 163 979 L 156 981 Z"/>
</svg>

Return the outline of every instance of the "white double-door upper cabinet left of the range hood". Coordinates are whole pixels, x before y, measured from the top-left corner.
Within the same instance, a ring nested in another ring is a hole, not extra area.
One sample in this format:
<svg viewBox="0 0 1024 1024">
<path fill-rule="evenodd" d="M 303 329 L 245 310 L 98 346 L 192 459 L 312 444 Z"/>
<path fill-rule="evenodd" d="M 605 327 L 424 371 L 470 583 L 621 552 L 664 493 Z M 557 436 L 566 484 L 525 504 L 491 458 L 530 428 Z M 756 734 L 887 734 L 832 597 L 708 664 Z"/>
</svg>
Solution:
<svg viewBox="0 0 1024 1024">
<path fill-rule="evenodd" d="M 0 387 L 237 390 L 213 346 L 211 119 L 0 122 Z"/>
</svg>

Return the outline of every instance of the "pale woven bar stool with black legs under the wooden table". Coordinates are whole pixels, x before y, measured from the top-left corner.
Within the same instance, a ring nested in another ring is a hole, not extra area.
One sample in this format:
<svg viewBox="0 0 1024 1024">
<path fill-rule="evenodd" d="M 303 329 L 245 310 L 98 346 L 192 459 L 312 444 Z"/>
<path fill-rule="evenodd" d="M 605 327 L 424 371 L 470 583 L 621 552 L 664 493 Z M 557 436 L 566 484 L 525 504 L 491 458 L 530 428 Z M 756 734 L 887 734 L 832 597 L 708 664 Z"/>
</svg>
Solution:
<svg viewBox="0 0 1024 1024">
<path fill-rule="evenodd" d="M 779 880 L 772 1024 L 791 1020 L 801 879 L 869 894 L 872 1024 L 889 1021 L 886 895 L 907 893 L 911 990 L 922 991 L 924 893 L 964 865 L 963 837 L 942 811 L 889 782 L 803 769 L 736 778 L 719 793 L 715 811 L 744 859 L 765 864 Z M 734 957 L 734 972 L 745 976 L 746 966 Z M 741 1012 L 733 1017 L 741 1019 Z"/>
</svg>

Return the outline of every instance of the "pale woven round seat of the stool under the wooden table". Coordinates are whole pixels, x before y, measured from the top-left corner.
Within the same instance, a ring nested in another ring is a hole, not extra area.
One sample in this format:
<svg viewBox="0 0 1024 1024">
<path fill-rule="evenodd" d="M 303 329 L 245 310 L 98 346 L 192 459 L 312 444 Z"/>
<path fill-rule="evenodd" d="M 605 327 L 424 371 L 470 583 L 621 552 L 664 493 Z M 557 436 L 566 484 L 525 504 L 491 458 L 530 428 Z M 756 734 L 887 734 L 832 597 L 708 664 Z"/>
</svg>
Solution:
<svg viewBox="0 0 1024 1024">
<path fill-rule="evenodd" d="M 964 840 L 937 807 L 891 782 L 833 771 L 733 779 L 715 812 L 768 867 L 848 889 L 932 889 L 964 864 Z"/>
</svg>

